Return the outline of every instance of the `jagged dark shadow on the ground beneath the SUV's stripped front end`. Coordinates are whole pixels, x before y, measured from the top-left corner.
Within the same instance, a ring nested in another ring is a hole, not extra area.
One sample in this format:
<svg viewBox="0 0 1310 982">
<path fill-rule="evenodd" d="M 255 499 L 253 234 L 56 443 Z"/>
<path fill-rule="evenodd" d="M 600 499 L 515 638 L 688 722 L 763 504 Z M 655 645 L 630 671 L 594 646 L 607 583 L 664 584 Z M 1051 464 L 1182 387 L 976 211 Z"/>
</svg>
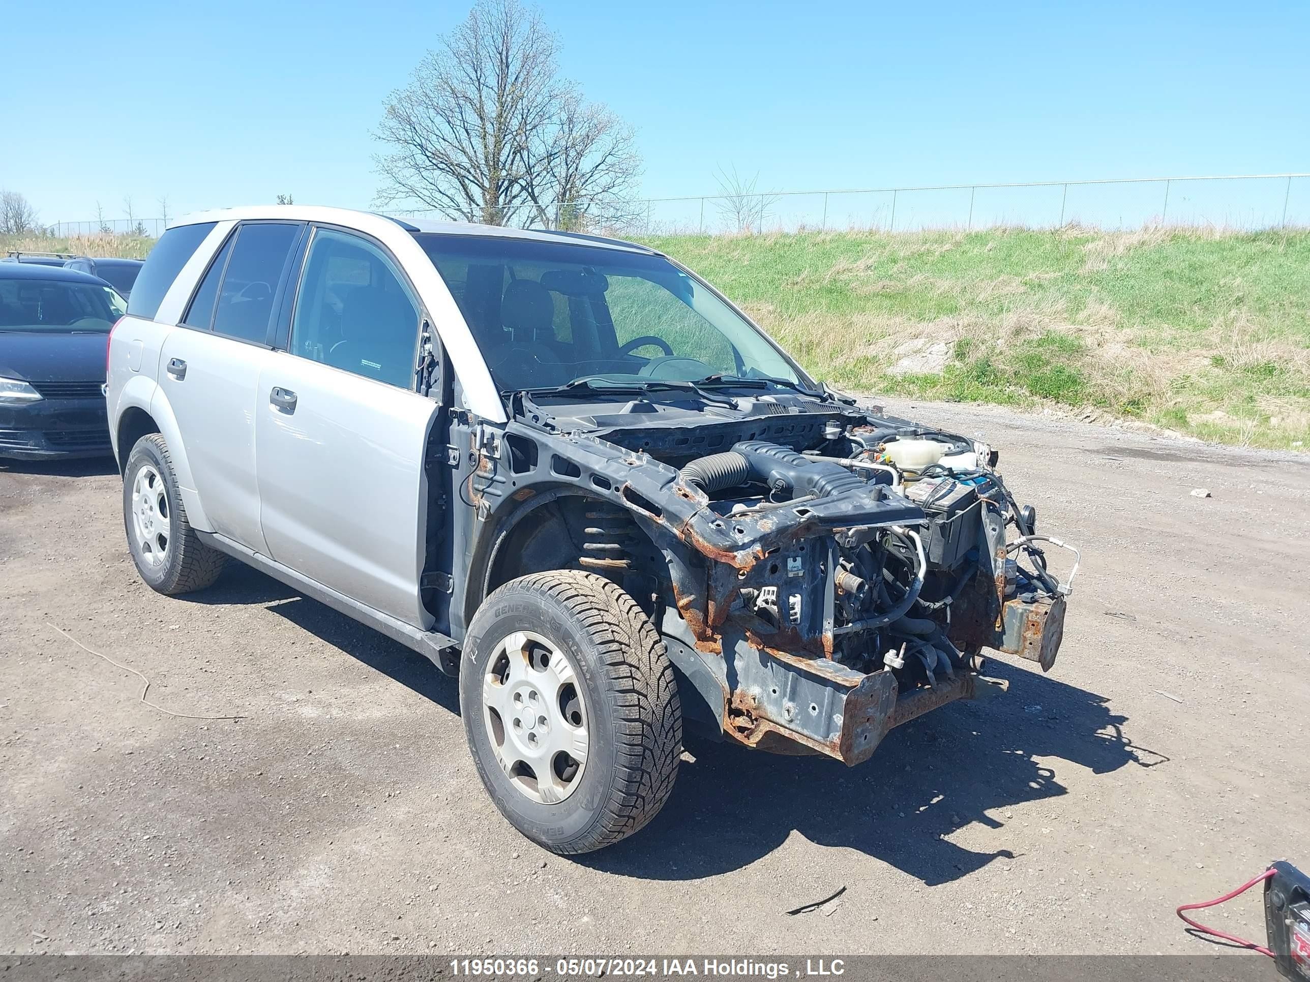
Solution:
<svg viewBox="0 0 1310 982">
<path fill-rule="evenodd" d="M 1127 719 L 1100 695 L 998 661 L 988 674 L 1007 680 L 1009 693 L 899 727 L 858 767 L 689 737 L 696 759 L 684 759 L 664 810 L 638 835 L 578 860 L 624 876 L 692 880 L 739 869 L 795 830 L 935 886 L 1014 858 L 946 837 L 975 821 L 1000 829 L 1005 808 L 1068 793 L 1039 758 L 1095 774 L 1167 761 L 1134 746 L 1121 729 Z"/>
</svg>

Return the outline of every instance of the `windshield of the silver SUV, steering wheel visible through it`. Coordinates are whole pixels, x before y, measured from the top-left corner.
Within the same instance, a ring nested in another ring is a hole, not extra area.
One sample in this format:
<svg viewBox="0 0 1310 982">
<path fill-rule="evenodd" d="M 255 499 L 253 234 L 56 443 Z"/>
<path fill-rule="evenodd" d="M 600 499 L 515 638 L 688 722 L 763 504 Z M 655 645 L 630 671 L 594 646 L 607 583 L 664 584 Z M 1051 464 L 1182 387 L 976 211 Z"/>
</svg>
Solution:
<svg viewBox="0 0 1310 982">
<path fill-rule="evenodd" d="M 803 378 L 747 319 L 663 257 L 493 236 L 415 238 L 502 391 L 576 378 Z"/>
</svg>

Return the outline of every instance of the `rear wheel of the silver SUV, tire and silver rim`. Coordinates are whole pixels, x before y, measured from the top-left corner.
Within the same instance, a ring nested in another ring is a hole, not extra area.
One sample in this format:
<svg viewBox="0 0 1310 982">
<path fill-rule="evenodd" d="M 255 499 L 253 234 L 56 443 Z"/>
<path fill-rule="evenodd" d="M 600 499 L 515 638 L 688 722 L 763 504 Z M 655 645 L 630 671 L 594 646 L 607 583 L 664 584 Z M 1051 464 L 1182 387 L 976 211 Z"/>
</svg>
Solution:
<svg viewBox="0 0 1310 982">
<path fill-rule="evenodd" d="M 202 542 L 186 520 L 173 458 L 159 433 L 143 436 L 127 456 L 123 524 L 136 571 L 160 593 L 204 589 L 227 564 L 227 556 Z"/>
</svg>

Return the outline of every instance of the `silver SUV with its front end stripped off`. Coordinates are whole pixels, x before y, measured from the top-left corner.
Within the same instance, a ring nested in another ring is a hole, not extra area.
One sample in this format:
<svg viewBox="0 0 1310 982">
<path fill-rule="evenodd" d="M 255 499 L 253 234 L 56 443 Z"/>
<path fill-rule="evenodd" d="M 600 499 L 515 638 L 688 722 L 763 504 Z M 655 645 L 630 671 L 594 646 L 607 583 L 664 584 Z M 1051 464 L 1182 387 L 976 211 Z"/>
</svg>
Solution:
<svg viewBox="0 0 1310 982">
<path fill-rule="evenodd" d="M 641 829 L 683 724 L 870 757 L 1049 669 L 1069 580 L 976 440 L 814 381 L 707 283 L 592 236 L 317 207 L 170 228 L 109 344 L 128 546 L 229 558 L 458 676 L 500 812 Z M 1077 560 L 1073 563 L 1077 571 Z"/>
</svg>

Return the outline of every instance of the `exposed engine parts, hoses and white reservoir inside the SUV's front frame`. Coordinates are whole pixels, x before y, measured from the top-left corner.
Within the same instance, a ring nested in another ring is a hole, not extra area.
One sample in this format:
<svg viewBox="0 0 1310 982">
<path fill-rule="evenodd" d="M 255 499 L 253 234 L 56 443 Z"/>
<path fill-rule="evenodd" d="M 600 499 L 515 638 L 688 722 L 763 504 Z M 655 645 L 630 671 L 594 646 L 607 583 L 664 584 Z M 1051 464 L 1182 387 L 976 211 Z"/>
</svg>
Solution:
<svg viewBox="0 0 1310 982">
<path fill-rule="evenodd" d="M 824 596 L 817 611 L 827 657 L 859 673 L 886 668 L 900 693 L 924 685 L 935 689 L 976 668 L 984 646 L 1005 644 L 1005 631 L 998 634 L 996 625 L 1003 627 L 1006 601 L 1049 605 L 1068 593 L 1069 585 L 1061 587 L 1048 572 L 1036 545 L 1049 539 L 1035 536 L 1035 511 L 1017 505 L 985 445 L 913 426 L 850 427 L 825 436 L 819 449 L 808 452 L 758 440 L 738 443 L 686 464 L 680 478 L 705 492 L 710 508 L 727 518 L 781 508 L 794 515 L 807 503 L 844 495 L 872 495 L 887 503 L 899 498 L 917 505 L 921 517 L 855 520 L 833 530 L 829 555 L 819 560 L 831 564 L 820 570 L 821 580 L 831 583 L 825 591 L 831 600 Z M 1009 543 L 1007 526 L 1017 533 Z M 799 545 L 804 549 L 803 541 Z M 761 638 L 814 638 L 817 625 L 806 605 L 816 596 L 799 583 L 793 588 L 793 581 L 804 579 L 807 558 L 799 550 L 778 553 L 785 575 L 749 585 L 755 576 L 745 573 L 739 604 L 761 622 Z M 1044 668 L 1057 644 L 1058 639 L 1048 643 L 1045 657 L 1038 659 Z"/>
</svg>

